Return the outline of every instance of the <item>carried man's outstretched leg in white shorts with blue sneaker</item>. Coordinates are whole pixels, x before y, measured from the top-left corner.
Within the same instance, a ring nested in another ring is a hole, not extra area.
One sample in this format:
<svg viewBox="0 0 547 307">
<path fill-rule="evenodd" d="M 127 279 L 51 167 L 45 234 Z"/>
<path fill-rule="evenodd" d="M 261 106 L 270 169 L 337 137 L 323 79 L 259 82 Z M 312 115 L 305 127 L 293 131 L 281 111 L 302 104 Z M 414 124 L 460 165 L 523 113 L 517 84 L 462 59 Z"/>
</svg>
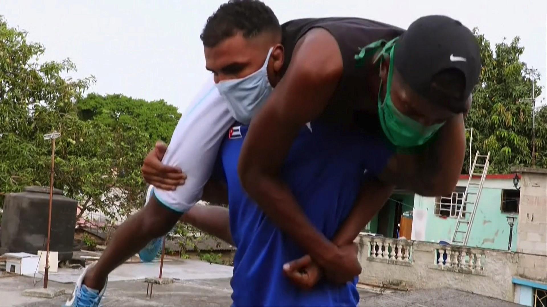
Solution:
<svg viewBox="0 0 547 307">
<path fill-rule="evenodd" d="M 150 240 L 170 231 L 183 212 L 201 198 L 220 144 L 233 122 L 211 76 L 179 120 L 164 158 L 168 166 L 183 169 L 188 175 L 184 186 L 174 191 L 153 189 L 148 205 L 121 225 L 99 261 L 84 272 L 79 280 L 82 285 L 76 285 L 67 305 L 98 305 L 108 274 Z"/>
</svg>

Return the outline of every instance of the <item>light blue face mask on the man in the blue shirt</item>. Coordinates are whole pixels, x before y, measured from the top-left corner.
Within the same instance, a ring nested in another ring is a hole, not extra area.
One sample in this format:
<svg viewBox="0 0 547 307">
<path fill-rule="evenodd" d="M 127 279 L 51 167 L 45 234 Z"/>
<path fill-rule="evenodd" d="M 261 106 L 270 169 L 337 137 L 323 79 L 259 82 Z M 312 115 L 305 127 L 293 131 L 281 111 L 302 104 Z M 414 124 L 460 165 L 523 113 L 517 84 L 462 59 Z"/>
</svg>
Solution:
<svg viewBox="0 0 547 307">
<path fill-rule="evenodd" d="M 245 78 L 220 81 L 217 83 L 220 95 L 228 102 L 228 108 L 234 119 L 248 125 L 251 118 L 266 102 L 272 92 L 266 68 L 274 47 L 270 48 L 264 65 Z"/>
</svg>

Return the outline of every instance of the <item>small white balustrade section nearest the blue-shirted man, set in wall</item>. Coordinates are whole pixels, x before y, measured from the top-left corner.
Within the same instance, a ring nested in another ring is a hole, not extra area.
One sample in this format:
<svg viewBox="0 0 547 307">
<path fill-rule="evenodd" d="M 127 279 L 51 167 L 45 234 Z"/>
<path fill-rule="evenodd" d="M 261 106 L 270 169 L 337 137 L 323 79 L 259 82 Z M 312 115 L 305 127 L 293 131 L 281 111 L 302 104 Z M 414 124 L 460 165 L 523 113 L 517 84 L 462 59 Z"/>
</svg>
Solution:
<svg viewBox="0 0 547 307">
<path fill-rule="evenodd" d="M 369 257 L 395 262 L 410 262 L 411 246 L 407 240 L 374 238 L 369 242 Z"/>
</svg>

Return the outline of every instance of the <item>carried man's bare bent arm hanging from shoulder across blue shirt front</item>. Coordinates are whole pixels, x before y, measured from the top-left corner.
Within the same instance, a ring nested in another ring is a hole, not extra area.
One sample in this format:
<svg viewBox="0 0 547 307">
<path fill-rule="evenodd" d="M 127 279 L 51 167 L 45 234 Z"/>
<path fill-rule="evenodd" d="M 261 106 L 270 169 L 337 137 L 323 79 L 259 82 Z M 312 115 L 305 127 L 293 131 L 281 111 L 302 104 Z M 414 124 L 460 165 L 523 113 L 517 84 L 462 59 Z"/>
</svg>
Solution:
<svg viewBox="0 0 547 307">
<path fill-rule="evenodd" d="M 322 265 L 339 256 L 337 247 L 313 227 L 278 174 L 299 129 L 322 113 L 341 74 L 335 39 L 324 29 L 312 29 L 296 45 L 287 73 L 251 121 L 238 163 L 249 196 Z"/>
</svg>

